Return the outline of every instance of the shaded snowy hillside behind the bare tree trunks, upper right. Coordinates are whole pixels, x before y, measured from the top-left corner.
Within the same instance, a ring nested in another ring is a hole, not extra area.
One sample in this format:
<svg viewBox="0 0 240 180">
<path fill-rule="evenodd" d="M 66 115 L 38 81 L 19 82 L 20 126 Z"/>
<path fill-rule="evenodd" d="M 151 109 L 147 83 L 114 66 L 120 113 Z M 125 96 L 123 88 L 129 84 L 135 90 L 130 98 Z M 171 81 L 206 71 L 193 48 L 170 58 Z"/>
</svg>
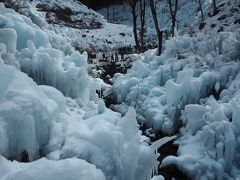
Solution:
<svg viewBox="0 0 240 180">
<path fill-rule="evenodd" d="M 183 34 L 195 34 L 197 32 L 212 34 L 220 31 L 234 32 L 240 27 L 239 17 L 239 2 L 238 0 L 230 1 L 216 1 L 218 7 L 218 14 L 211 16 L 212 1 L 201 0 L 203 14 L 204 14 L 204 26 L 199 29 L 201 23 L 201 13 L 199 9 L 199 1 L 195 0 L 181 0 L 178 3 L 176 27 L 180 35 Z M 169 5 L 166 0 L 155 0 L 157 9 L 157 17 L 160 23 L 160 27 L 168 35 L 171 28 L 171 18 Z M 137 5 L 137 24 L 140 28 L 140 14 L 139 4 Z M 105 18 L 107 18 L 107 8 L 100 9 L 98 11 Z M 131 8 L 128 3 L 121 5 L 114 5 L 114 16 L 112 12 L 112 6 L 109 7 L 109 20 L 120 24 L 132 25 Z M 124 16 L 122 15 L 124 14 Z M 115 19 L 113 19 L 113 17 Z M 152 21 L 152 14 L 149 6 L 146 8 L 146 34 L 145 39 L 147 44 L 156 44 L 156 31 L 154 29 L 154 23 Z"/>
</svg>

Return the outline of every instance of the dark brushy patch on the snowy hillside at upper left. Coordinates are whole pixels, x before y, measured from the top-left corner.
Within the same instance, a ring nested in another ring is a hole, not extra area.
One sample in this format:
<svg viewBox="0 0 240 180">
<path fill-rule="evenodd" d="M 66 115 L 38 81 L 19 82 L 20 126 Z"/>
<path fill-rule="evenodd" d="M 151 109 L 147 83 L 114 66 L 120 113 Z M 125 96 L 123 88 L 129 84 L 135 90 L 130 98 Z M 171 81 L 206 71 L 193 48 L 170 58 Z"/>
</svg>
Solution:
<svg viewBox="0 0 240 180">
<path fill-rule="evenodd" d="M 38 11 L 46 13 L 49 24 L 59 24 L 77 29 L 99 29 L 103 17 L 76 0 L 35 0 L 31 2 Z"/>
</svg>

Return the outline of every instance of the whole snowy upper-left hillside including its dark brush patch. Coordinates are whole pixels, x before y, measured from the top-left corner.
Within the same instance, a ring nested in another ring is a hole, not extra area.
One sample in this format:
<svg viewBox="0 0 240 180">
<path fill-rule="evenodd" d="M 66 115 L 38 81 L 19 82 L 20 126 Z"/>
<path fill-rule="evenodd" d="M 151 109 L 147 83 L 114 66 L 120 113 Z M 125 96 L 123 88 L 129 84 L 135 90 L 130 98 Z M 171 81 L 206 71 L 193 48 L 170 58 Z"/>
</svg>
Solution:
<svg viewBox="0 0 240 180">
<path fill-rule="evenodd" d="M 18 11 L 47 32 L 53 44 L 58 43 L 55 48 L 68 43 L 80 52 L 97 53 L 132 46 L 134 42 L 131 26 L 108 23 L 102 15 L 76 0 L 25 0 L 19 6 Z"/>
</svg>

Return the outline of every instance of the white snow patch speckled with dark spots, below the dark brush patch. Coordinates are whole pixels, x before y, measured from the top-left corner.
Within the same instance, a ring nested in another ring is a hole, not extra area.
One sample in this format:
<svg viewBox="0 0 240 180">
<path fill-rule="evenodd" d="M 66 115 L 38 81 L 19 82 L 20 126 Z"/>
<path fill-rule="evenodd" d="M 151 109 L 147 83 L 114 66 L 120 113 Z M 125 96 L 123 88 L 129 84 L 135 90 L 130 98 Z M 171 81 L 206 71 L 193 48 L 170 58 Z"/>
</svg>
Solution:
<svg viewBox="0 0 240 180">
<path fill-rule="evenodd" d="M 103 23 L 100 29 L 76 29 L 54 25 L 51 30 L 69 38 L 71 44 L 80 51 L 91 53 L 111 52 L 122 47 L 133 47 L 132 28 L 126 25 Z"/>
</svg>

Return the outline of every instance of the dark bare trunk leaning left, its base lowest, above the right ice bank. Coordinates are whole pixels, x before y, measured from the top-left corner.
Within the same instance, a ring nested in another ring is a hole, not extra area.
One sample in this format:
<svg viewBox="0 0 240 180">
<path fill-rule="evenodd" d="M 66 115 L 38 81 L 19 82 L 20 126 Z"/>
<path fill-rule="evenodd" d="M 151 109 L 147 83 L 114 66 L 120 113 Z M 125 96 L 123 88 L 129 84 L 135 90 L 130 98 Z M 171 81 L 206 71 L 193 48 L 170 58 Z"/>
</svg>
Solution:
<svg viewBox="0 0 240 180">
<path fill-rule="evenodd" d="M 157 12 L 156 12 L 156 7 L 154 4 L 153 0 L 148 0 L 150 9 L 151 9 L 151 13 L 152 13 L 152 18 L 153 18 L 153 22 L 154 22 L 154 26 L 157 32 L 157 37 L 158 37 L 158 52 L 157 55 L 160 56 L 162 53 L 162 41 L 163 41 L 163 31 L 160 29 L 159 23 L 158 23 L 158 19 L 157 19 Z"/>
</svg>

